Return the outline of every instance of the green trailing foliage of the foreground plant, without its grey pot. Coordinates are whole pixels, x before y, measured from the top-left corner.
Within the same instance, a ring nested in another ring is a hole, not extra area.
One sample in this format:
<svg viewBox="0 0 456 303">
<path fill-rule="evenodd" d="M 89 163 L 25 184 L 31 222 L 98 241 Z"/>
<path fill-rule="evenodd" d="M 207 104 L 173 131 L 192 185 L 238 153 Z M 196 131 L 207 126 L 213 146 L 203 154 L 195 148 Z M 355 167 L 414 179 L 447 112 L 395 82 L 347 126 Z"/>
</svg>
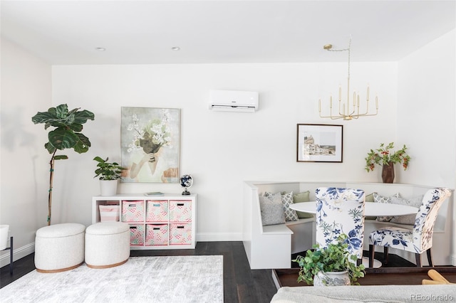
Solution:
<svg viewBox="0 0 456 303">
<path fill-rule="evenodd" d="M 305 281 L 308 285 L 314 285 L 314 276 L 318 272 L 348 272 L 352 285 L 359 285 L 356 280 L 364 277 L 364 265 L 356 265 L 358 257 L 348 252 L 348 236 L 339 235 L 335 243 L 330 243 L 326 248 L 314 244 L 313 250 L 307 250 L 306 256 L 297 256 L 293 262 L 299 267 L 298 282 Z"/>
</svg>

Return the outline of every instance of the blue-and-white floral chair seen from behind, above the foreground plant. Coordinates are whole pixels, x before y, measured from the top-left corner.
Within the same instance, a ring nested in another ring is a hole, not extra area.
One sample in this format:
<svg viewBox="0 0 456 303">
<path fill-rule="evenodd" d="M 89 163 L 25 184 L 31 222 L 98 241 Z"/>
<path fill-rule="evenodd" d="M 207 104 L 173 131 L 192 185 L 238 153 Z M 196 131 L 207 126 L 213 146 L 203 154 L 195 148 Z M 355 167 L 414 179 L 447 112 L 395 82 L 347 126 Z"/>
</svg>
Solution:
<svg viewBox="0 0 456 303">
<path fill-rule="evenodd" d="M 363 258 L 364 191 L 361 189 L 316 188 L 316 243 L 325 248 L 342 233 L 348 235 L 348 250 Z"/>
</svg>

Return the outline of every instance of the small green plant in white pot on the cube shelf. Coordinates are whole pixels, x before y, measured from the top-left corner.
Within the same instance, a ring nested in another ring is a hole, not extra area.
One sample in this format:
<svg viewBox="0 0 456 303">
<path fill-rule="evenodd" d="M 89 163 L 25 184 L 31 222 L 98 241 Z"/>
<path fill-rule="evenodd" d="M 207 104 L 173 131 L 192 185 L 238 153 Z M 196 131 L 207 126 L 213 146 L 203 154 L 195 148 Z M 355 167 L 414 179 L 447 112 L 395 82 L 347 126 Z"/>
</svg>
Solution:
<svg viewBox="0 0 456 303">
<path fill-rule="evenodd" d="M 108 159 L 103 160 L 100 156 L 93 158 L 98 162 L 93 178 L 100 179 L 101 196 L 115 196 L 118 180 L 122 179 L 122 171 L 125 169 L 116 162 L 108 162 Z"/>
</svg>

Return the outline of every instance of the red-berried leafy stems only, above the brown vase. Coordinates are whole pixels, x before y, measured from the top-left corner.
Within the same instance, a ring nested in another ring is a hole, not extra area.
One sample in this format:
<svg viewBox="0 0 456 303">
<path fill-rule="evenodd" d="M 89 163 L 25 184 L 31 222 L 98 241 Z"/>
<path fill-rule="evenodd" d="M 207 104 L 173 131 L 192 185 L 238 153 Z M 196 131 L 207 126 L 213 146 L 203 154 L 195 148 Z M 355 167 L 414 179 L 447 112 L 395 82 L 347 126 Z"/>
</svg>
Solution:
<svg viewBox="0 0 456 303">
<path fill-rule="evenodd" d="M 375 168 L 375 164 L 378 165 L 390 165 L 390 164 L 396 164 L 396 163 L 401 163 L 403 166 L 403 169 L 408 168 L 408 162 L 410 161 L 410 156 L 408 156 L 406 150 L 407 147 L 403 146 L 402 149 L 399 149 L 398 151 L 392 152 L 390 149 L 394 148 L 394 142 L 391 142 L 385 147 L 385 144 L 380 144 L 380 148 L 378 149 L 371 149 L 371 151 L 368 152 L 368 156 L 365 158 L 366 160 L 366 171 L 373 171 Z"/>
</svg>

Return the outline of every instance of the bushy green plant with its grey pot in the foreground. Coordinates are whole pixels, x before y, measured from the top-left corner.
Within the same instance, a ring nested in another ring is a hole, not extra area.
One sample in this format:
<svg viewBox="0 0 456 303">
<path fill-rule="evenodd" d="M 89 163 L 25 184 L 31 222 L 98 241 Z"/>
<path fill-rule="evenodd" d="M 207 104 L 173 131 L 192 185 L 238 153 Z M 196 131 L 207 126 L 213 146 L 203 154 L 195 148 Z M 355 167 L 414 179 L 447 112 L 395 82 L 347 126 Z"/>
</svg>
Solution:
<svg viewBox="0 0 456 303">
<path fill-rule="evenodd" d="M 348 236 L 339 235 L 335 243 L 326 248 L 314 244 L 314 250 L 307 250 L 306 256 L 296 257 L 300 270 L 298 282 L 305 281 L 308 285 L 359 285 L 356 280 L 364 277 L 364 265 L 357 265 L 358 257 L 348 252 Z"/>
</svg>

